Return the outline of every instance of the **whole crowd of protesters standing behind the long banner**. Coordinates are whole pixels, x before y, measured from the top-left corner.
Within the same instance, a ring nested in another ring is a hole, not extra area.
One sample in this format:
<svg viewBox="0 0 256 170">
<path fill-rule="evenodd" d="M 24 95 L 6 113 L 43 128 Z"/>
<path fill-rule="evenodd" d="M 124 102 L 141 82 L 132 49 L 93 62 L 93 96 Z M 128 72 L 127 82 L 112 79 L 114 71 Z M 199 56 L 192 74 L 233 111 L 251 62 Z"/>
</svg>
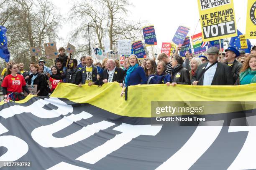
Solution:
<svg viewBox="0 0 256 170">
<path fill-rule="evenodd" d="M 177 49 L 177 51 L 179 48 Z M 63 47 L 55 65 L 47 67 L 44 60 L 38 64 L 31 62 L 27 71 L 23 63 L 7 63 L 1 74 L 3 95 L 15 92 L 31 92 L 26 85 L 37 85 L 35 95 L 48 96 L 59 83 L 72 83 L 79 87 L 86 85 L 102 86 L 108 82 L 118 82 L 125 95 L 130 85 L 166 84 L 181 85 L 246 85 L 256 83 L 256 46 L 251 53 L 228 47 L 220 53 L 217 47 L 210 47 L 205 55 L 199 57 L 186 52 L 184 59 L 177 54 L 171 57 L 161 53 L 153 60 L 138 60 L 136 55 L 125 57 L 123 67 L 119 60 L 105 58 L 102 63 L 93 64 L 91 56 L 80 58 L 80 64 L 71 55 L 66 55 Z M 99 73 L 101 67 L 103 72 Z"/>
</svg>

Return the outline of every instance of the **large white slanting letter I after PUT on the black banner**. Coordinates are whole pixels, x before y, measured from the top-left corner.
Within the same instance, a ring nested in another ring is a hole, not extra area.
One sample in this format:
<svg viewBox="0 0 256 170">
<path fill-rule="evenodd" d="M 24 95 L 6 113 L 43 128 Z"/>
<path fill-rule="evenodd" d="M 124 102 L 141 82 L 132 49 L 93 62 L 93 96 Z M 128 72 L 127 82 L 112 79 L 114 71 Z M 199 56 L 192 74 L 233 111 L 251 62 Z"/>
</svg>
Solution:
<svg viewBox="0 0 256 170">
<path fill-rule="evenodd" d="M 198 125 L 193 135 L 182 148 L 156 168 L 156 170 L 168 170 L 170 167 L 172 169 L 188 170 L 218 137 L 223 126 L 215 125 L 223 125 L 223 122 L 224 120 L 202 122 L 202 124 L 207 123 L 207 125 Z M 195 143 L 198 143 L 198 141 L 200 141 L 200 147 L 195 147 Z M 182 163 L 180 163 L 180 160 L 182 160 Z"/>
</svg>

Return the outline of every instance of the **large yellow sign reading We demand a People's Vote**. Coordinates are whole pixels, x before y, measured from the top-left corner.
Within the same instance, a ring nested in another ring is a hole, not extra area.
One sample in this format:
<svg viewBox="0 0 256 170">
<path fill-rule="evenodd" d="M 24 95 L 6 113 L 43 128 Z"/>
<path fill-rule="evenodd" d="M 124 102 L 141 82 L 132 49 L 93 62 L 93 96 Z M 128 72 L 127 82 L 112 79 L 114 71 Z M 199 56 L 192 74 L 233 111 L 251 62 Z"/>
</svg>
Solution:
<svg viewBox="0 0 256 170">
<path fill-rule="evenodd" d="M 237 36 L 233 0 L 197 0 L 204 42 Z"/>
</svg>

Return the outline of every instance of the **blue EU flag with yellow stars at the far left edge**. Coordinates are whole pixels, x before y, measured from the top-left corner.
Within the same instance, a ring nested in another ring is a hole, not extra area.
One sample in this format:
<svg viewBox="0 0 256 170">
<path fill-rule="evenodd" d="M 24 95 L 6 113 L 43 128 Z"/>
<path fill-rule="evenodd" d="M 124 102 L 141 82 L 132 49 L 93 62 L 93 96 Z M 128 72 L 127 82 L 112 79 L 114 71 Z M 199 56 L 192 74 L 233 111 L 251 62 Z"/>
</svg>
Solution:
<svg viewBox="0 0 256 170">
<path fill-rule="evenodd" d="M 5 62 L 9 62 L 10 60 L 10 52 L 7 48 L 7 37 L 5 32 L 7 29 L 3 26 L 0 26 L 0 57 L 5 59 Z"/>
</svg>

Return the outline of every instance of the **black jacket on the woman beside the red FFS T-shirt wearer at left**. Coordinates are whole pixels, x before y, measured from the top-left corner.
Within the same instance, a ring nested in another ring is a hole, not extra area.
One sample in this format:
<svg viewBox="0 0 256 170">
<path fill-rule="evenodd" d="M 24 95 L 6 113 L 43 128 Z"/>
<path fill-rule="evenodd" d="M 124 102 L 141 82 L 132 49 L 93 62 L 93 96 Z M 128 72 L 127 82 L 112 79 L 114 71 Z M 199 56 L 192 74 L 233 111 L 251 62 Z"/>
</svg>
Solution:
<svg viewBox="0 0 256 170">
<path fill-rule="evenodd" d="M 37 73 L 37 77 L 35 78 L 33 85 L 37 85 L 37 89 L 36 91 L 40 90 L 40 92 L 38 93 L 39 96 L 48 96 L 49 91 L 46 85 L 46 81 L 45 81 L 45 77 L 43 74 L 41 73 Z M 29 75 L 28 78 L 28 85 L 31 85 L 31 78 L 33 77 L 34 74 Z"/>
</svg>

